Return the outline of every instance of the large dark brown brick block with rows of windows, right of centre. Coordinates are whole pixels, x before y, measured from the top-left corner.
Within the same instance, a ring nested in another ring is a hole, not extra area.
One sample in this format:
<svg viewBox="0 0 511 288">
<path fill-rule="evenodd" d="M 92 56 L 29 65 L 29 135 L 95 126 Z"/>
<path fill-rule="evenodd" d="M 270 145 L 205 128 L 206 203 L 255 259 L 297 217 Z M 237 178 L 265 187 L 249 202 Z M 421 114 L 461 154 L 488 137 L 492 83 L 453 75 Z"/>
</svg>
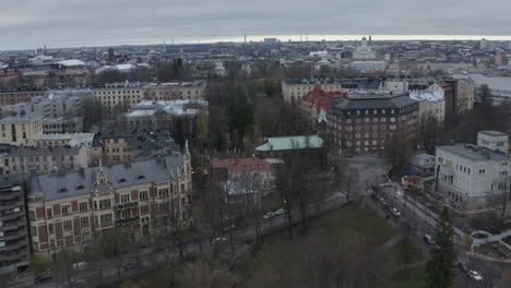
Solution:
<svg viewBox="0 0 511 288">
<path fill-rule="evenodd" d="M 356 97 L 332 100 L 326 115 L 331 153 L 377 153 L 394 133 L 415 139 L 419 103 L 407 93 L 358 93 Z"/>
</svg>

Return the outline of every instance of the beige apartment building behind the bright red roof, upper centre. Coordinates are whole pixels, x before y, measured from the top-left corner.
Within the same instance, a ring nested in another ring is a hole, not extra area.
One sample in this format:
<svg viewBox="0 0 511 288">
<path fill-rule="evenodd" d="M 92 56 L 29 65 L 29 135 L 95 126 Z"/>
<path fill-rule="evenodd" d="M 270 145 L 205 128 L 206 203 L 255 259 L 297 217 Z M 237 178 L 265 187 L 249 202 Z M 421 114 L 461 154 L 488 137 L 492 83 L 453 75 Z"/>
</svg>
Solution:
<svg viewBox="0 0 511 288">
<path fill-rule="evenodd" d="M 282 97 L 286 103 L 297 105 L 316 85 L 325 92 L 342 92 L 338 79 L 285 79 L 282 81 Z"/>
</svg>

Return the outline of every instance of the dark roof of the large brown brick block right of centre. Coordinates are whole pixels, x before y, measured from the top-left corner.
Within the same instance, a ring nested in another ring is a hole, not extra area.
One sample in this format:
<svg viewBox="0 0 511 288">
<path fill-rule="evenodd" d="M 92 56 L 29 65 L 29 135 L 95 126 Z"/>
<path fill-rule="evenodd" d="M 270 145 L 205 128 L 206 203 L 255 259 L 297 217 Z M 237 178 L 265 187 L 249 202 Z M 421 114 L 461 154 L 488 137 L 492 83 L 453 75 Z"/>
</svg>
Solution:
<svg viewBox="0 0 511 288">
<path fill-rule="evenodd" d="M 330 110 L 400 109 L 414 104 L 418 104 L 418 101 L 409 98 L 406 93 L 375 97 L 334 98 Z"/>
</svg>

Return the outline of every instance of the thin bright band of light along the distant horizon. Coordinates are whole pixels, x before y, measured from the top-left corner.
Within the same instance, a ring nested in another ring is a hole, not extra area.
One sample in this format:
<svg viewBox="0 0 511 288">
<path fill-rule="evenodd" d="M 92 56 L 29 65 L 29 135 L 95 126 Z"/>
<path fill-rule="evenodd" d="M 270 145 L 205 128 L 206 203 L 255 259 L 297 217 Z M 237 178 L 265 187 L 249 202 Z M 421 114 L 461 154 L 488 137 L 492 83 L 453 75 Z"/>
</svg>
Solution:
<svg viewBox="0 0 511 288">
<path fill-rule="evenodd" d="M 375 41 L 427 41 L 427 40 L 480 40 L 486 39 L 490 41 L 511 41 L 511 35 L 363 35 L 363 34 L 345 34 L 345 35 L 247 35 L 247 43 L 260 43 L 264 38 L 277 38 L 281 43 L 292 41 L 356 41 L 363 37 L 371 36 Z M 174 45 L 198 45 L 198 44 L 216 44 L 216 43 L 243 43 L 245 35 L 241 36 L 224 36 L 224 37 L 180 37 L 174 38 Z M 47 49 L 72 49 L 72 48 L 93 48 L 93 47 L 116 47 L 116 46 L 143 46 L 143 45 L 171 45 L 173 38 L 132 38 L 122 41 L 115 43 L 90 43 L 79 44 L 70 41 L 68 45 L 54 45 L 51 43 L 41 44 L 40 46 L 34 47 L 19 47 L 19 48 L 2 48 L 1 52 L 9 51 L 29 51 L 34 49 L 40 49 L 45 45 Z"/>
</svg>

